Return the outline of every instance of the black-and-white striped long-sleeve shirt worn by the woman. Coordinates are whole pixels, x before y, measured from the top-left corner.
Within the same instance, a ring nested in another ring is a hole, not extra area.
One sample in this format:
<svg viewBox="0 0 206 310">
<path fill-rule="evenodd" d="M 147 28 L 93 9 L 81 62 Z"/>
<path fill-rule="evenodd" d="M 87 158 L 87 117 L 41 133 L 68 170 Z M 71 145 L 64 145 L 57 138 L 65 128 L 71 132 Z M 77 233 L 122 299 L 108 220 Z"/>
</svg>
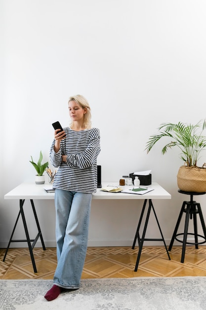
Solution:
<svg viewBox="0 0 206 310">
<path fill-rule="evenodd" d="M 83 193 L 95 193 L 97 189 L 97 156 L 100 153 L 99 129 L 74 131 L 64 128 L 66 138 L 61 141 L 60 150 L 50 149 L 50 162 L 58 167 L 53 188 Z M 67 155 L 67 162 L 62 162 Z"/>
</svg>

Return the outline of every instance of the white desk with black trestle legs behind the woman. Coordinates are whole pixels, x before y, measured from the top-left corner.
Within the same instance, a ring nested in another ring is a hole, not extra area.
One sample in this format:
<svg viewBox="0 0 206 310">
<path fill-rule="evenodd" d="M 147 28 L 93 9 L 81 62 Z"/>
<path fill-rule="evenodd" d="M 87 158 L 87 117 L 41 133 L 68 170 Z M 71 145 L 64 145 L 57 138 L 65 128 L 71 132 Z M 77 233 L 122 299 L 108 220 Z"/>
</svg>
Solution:
<svg viewBox="0 0 206 310">
<path fill-rule="evenodd" d="M 102 183 L 102 187 L 107 186 L 107 185 L 117 185 L 113 182 L 105 182 Z M 37 272 L 37 268 L 36 268 L 36 263 L 35 263 L 35 259 L 34 259 L 34 255 L 33 255 L 33 248 L 37 242 L 37 240 L 39 238 L 41 238 L 41 244 L 42 244 L 42 248 L 43 250 L 45 250 L 45 246 L 44 246 L 44 242 L 43 242 L 43 237 L 41 234 L 41 228 L 39 225 L 39 220 L 38 220 L 38 216 L 35 210 L 35 205 L 34 205 L 34 200 L 53 200 L 54 199 L 54 193 L 47 193 L 44 190 L 44 187 L 46 186 L 46 184 L 35 184 L 35 183 L 22 183 L 19 186 L 15 187 L 13 190 L 11 190 L 10 192 L 8 192 L 7 194 L 4 195 L 4 199 L 15 199 L 15 200 L 19 200 L 20 202 L 20 210 L 3 258 L 3 261 L 6 258 L 6 254 L 8 252 L 9 246 L 11 242 L 27 242 L 28 243 L 28 247 L 30 250 L 30 256 L 32 259 L 32 263 L 33 263 L 33 268 L 34 268 L 34 272 Z M 151 185 L 147 186 L 148 188 L 153 188 L 154 190 L 146 193 L 144 195 L 137 195 L 137 194 L 126 194 L 126 193 L 108 193 L 108 192 L 103 192 L 100 189 L 97 189 L 97 192 L 95 194 L 92 195 L 92 200 L 96 200 L 96 199 L 103 199 L 103 200 L 113 200 L 113 199 L 121 199 L 121 200 L 144 200 L 144 204 L 142 207 L 142 211 L 141 211 L 141 215 L 140 215 L 140 219 L 139 219 L 139 223 L 137 226 L 137 230 L 135 233 L 135 237 L 134 237 L 134 242 L 132 245 L 132 249 L 134 249 L 135 244 L 136 244 L 136 240 L 138 240 L 138 245 L 139 245 L 139 252 L 138 252 L 138 256 L 137 256 L 137 261 L 136 261 L 136 265 L 135 265 L 135 269 L 134 271 L 137 271 L 138 268 L 138 264 L 139 264 L 139 259 L 140 259 L 140 255 L 141 255 L 141 251 L 142 251 L 142 247 L 143 247 L 143 243 L 144 241 L 163 241 L 164 245 L 165 245 L 165 240 L 161 231 L 161 227 L 152 203 L 152 200 L 157 200 L 157 199 L 171 199 L 171 195 L 169 193 L 167 193 L 165 191 L 165 189 L 160 186 L 158 183 L 152 183 Z M 124 186 L 124 188 L 131 188 L 131 186 Z M 29 236 L 29 232 L 28 232 L 28 228 L 27 228 L 27 223 L 26 223 L 26 219 L 25 219 L 25 215 L 24 215 L 24 210 L 23 210 L 23 205 L 24 205 L 24 201 L 26 199 L 29 199 L 31 201 L 31 205 L 33 208 L 33 212 L 34 212 L 34 216 L 35 216 L 35 220 L 36 220 L 36 224 L 38 227 L 38 234 L 36 236 L 35 239 L 30 239 Z M 148 204 L 148 211 L 147 211 L 147 216 L 146 216 L 146 220 L 145 220 L 145 224 L 144 224 L 144 229 L 143 229 L 143 233 L 142 233 L 142 237 L 140 238 L 139 236 L 139 229 L 140 229 L 140 225 L 142 222 L 142 218 L 145 212 L 145 207 L 147 204 L 147 201 L 149 201 Z M 153 212 L 155 214 L 155 218 L 162 236 L 162 239 L 146 239 L 145 238 L 145 234 L 146 234 L 146 229 L 147 229 L 147 224 L 149 221 L 149 216 L 150 216 L 150 212 L 151 209 L 153 209 Z M 26 233 L 26 240 L 12 240 L 18 219 L 20 214 L 22 215 L 22 220 L 23 220 L 23 224 L 24 224 L 24 229 L 25 229 L 25 233 Z M 33 242 L 33 244 L 31 244 L 31 241 Z M 167 256 L 169 257 L 169 253 L 167 251 L 166 245 L 165 245 L 165 249 L 167 252 Z"/>
</svg>

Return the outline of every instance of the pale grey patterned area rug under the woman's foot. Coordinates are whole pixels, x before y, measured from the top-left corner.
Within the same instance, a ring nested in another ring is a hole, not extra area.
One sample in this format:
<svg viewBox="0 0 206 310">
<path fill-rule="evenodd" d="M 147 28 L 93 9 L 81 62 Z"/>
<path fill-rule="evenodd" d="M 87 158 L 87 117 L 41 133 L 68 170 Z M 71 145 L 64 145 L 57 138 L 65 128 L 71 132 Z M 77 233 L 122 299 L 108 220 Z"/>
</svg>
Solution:
<svg viewBox="0 0 206 310">
<path fill-rule="evenodd" d="M 51 302 L 51 280 L 0 280 L 2 310 L 206 310 L 206 277 L 83 279 Z"/>
</svg>

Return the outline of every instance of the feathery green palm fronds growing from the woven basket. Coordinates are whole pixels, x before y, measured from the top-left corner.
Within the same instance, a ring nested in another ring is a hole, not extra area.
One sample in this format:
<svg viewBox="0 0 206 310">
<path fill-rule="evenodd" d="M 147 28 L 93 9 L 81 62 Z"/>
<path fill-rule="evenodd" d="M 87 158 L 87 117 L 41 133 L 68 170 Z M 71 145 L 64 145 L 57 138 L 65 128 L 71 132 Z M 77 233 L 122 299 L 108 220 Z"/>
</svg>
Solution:
<svg viewBox="0 0 206 310">
<path fill-rule="evenodd" d="M 158 128 L 159 133 L 152 135 L 146 144 L 147 153 L 163 137 L 170 139 L 170 142 L 162 149 L 165 154 L 168 149 L 177 146 L 181 150 L 180 158 L 187 166 L 197 166 L 200 153 L 206 148 L 206 137 L 203 131 L 206 129 L 206 120 L 201 120 L 197 124 L 163 123 Z"/>
</svg>

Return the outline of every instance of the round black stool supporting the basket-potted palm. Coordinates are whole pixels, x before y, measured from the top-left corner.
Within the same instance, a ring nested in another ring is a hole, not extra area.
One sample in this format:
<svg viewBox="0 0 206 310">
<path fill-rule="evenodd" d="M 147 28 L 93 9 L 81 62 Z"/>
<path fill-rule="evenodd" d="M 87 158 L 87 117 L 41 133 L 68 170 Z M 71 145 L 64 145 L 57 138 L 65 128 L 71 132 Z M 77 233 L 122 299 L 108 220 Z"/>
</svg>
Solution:
<svg viewBox="0 0 206 310">
<path fill-rule="evenodd" d="M 196 203 L 196 201 L 193 201 L 193 195 L 205 195 L 206 192 L 204 193 L 194 193 L 194 192 L 184 192 L 181 190 L 178 190 L 179 193 L 181 194 L 186 194 L 186 195 L 190 195 L 190 201 L 184 201 L 182 204 L 182 208 L 181 211 L 179 213 L 179 217 L 177 219 L 177 223 L 171 238 L 171 242 L 168 248 L 168 251 L 171 251 L 174 239 L 177 240 L 178 242 L 182 243 L 182 257 L 181 257 L 181 262 L 184 262 L 185 259 L 185 249 L 186 249 L 186 244 L 190 244 L 190 245 L 195 245 L 195 248 L 198 249 L 198 245 L 199 244 L 203 244 L 206 243 L 206 225 L 205 225 L 205 221 L 203 218 L 203 213 L 201 210 L 201 206 L 199 203 Z M 183 212 L 186 213 L 185 215 L 185 228 L 184 228 L 184 233 L 180 233 L 177 234 L 177 230 L 182 218 L 182 214 Z M 201 224 L 203 227 L 203 233 L 204 236 L 198 235 L 198 227 L 197 227 L 197 214 L 199 214 L 200 216 L 200 220 L 201 220 Z M 189 219 L 193 218 L 193 224 L 194 224 L 194 233 L 188 233 L 188 225 L 189 225 Z M 179 240 L 177 237 L 178 236 L 184 236 L 183 237 L 183 241 Z M 187 235 L 193 235 L 195 236 L 195 242 L 187 242 Z M 202 237 L 204 239 L 204 241 L 202 242 L 198 242 L 198 237 Z"/>
</svg>

